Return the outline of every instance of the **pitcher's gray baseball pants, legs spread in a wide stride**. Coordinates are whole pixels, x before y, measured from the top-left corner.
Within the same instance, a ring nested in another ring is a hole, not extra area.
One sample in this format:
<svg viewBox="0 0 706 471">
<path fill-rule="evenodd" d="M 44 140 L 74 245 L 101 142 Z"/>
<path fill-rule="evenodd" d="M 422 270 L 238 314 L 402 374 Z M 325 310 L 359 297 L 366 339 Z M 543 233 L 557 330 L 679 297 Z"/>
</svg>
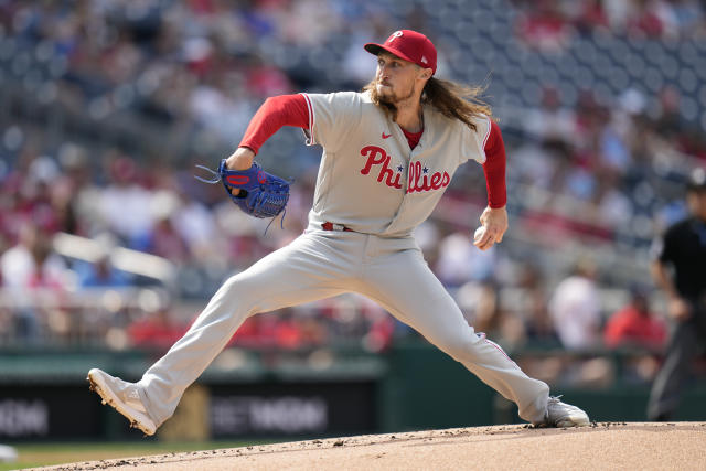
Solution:
<svg viewBox="0 0 706 471">
<path fill-rule="evenodd" d="M 378 302 L 514 402 L 520 417 L 542 420 L 548 386 L 525 375 L 502 349 L 468 325 L 414 238 L 317 228 L 216 291 L 191 329 L 138 383 L 150 416 L 158 426 L 172 416 L 184 390 L 248 317 L 343 292 Z"/>
</svg>

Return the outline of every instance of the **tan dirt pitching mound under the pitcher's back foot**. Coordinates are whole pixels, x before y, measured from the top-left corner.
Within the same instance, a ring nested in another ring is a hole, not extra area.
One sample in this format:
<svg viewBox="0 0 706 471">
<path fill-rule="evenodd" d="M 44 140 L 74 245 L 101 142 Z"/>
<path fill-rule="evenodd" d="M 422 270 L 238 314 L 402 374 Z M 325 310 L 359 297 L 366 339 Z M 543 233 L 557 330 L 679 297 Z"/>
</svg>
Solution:
<svg viewBox="0 0 706 471">
<path fill-rule="evenodd" d="M 92 461 L 45 470 L 706 469 L 706 422 L 494 426 Z"/>
</svg>

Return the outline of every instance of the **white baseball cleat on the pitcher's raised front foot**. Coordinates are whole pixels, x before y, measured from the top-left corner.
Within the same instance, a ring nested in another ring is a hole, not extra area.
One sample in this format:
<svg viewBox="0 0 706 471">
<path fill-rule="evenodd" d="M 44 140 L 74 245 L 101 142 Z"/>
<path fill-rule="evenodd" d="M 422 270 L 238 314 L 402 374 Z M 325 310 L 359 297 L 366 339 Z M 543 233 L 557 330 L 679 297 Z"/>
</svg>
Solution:
<svg viewBox="0 0 706 471">
<path fill-rule="evenodd" d="M 140 400 L 137 386 L 98 368 L 90 370 L 86 379 L 90 383 L 90 390 L 100 396 L 103 405 L 108 404 L 122 414 L 130 421 L 130 427 L 142 430 L 145 435 L 154 435 L 157 426 Z"/>
</svg>

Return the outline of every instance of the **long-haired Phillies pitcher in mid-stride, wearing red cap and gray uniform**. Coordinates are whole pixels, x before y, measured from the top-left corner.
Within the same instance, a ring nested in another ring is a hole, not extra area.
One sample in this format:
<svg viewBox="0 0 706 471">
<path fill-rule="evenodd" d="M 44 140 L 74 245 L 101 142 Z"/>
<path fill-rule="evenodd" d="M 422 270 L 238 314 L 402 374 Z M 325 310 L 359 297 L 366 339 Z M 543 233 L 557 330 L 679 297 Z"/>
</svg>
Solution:
<svg viewBox="0 0 706 471">
<path fill-rule="evenodd" d="M 362 93 L 268 98 L 238 149 L 214 172 L 213 181 L 222 181 L 243 211 L 279 214 L 289 185 L 263 171 L 254 157 L 282 126 L 301 128 L 308 146 L 323 148 L 304 233 L 227 279 L 139 382 L 88 372 L 92 388 L 132 427 L 154 433 L 248 317 L 344 292 L 366 296 L 416 329 L 514 402 L 523 419 L 550 427 L 588 425 L 585 411 L 550 397 L 545 383 L 525 375 L 468 325 L 411 236 L 456 169 L 474 160 L 483 165 L 489 193 L 474 245 L 486 250 L 502 240 L 505 150 L 490 108 L 477 89 L 434 76 L 437 51 L 424 34 L 402 30 L 364 47 L 377 58 L 377 71 Z"/>
</svg>

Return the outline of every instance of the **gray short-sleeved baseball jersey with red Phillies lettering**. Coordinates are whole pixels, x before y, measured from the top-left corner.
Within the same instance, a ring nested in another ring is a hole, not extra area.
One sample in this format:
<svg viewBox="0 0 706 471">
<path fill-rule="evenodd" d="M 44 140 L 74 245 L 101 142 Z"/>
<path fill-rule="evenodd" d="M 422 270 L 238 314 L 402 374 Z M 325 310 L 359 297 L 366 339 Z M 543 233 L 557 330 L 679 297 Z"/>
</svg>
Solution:
<svg viewBox="0 0 706 471">
<path fill-rule="evenodd" d="M 424 133 L 414 150 L 391 116 L 367 93 L 303 94 L 308 144 L 323 154 L 310 221 L 364 234 L 406 236 L 436 207 L 453 172 L 485 161 L 490 119 L 477 130 L 424 107 Z"/>
</svg>

